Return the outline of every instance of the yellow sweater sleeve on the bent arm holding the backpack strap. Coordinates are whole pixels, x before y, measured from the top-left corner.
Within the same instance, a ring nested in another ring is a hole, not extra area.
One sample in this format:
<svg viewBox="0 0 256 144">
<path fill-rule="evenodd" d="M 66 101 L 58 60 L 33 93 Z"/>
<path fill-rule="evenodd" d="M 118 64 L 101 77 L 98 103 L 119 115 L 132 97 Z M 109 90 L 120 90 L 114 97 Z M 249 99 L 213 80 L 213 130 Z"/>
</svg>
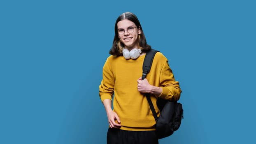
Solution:
<svg viewBox="0 0 256 144">
<path fill-rule="evenodd" d="M 161 95 L 159 95 L 159 98 L 172 101 L 179 100 L 182 91 L 179 87 L 179 82 L 175 81 L 174 75 L 166 58 L 161 69 L 160 87 L 163 91 Z"/>
</svg>

